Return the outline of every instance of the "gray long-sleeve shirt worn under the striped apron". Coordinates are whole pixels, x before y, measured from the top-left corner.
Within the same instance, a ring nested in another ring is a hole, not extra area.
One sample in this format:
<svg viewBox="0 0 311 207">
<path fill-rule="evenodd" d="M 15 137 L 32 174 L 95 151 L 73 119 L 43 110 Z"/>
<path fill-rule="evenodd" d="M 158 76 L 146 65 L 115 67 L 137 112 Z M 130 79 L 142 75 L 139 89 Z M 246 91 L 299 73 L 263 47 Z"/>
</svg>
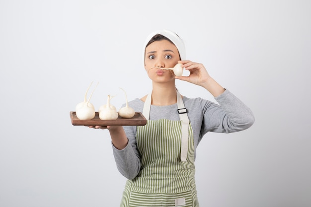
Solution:
<svg viewBox="0 0 311 207">
<path fill-rule="evenodd" d="M 207 132 L 232 133 L 248 129 L 254 123 L 251 110 L 234 96 L 228 89 L 218 97 L 219 104 L 202 98 L 183 97 L 188 118 L 193 129 L 194 148 L 196 148 Z M 142 112 L 144 102 L 136 98 L 129 102 L 136 112 Z M 151 106 L 149 120 L 179 120 L 177 103 L 168 106 Z M 113 154 L 119 172 L 128 179 L 137 176 L 141 169 L 140 153 L 136 146 L 136 126 L 124 126 L 129 142 L 124 149 L 113 145 Z"/>
</svg>

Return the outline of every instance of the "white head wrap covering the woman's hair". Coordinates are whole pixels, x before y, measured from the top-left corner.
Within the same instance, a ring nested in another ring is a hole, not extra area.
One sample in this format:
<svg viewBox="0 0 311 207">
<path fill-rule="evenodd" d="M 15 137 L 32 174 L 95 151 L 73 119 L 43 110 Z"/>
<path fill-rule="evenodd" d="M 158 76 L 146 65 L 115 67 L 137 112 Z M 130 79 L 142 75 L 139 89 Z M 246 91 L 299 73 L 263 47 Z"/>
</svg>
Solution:
<svg viewBox="0 0 311 207">
<path fill-rule="evenodd" d="M 144 66 L 145 66 L 145 51 L 146 51 L 146 46 L 149 43 L 149 41 L 151 40 L 151 38 L 153 38 L 156 34 L 160 34 L 163 35 L 164 37 L 168 38 L 170 41 L 172 41 L 172 43 L 174 43 L 174 45 L 176 46 L 178 52 L 179 52 L 179 56 L 180 56 L 180 60 L 185 60 L 186 59 L 186 49 L 185 49 L 185 45 L 182 41 L 182 39 L 180 39 L 180 37 L 178 37 L 178 35 L 174 32 L 168 31 L 168 30 L 157 30 L 153 33 L 151 33 L 146 41 L 145 41 L 145 45 L 144 45 Z"/>
</svg>

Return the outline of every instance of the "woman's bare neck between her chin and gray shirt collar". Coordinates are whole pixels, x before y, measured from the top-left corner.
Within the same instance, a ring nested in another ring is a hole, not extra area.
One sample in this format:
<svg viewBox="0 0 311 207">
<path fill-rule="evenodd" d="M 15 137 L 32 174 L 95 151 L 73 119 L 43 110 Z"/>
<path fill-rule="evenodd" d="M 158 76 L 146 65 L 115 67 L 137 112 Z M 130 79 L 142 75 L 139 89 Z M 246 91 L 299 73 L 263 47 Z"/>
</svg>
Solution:
<svg viewBox="0 0 311 207">
<path fill-rule="evenodd" d="M 152 105 L 167 106 L 177 103 L 177 92 L 175 85 L 170 87 L 161 87 L 153 85 L 152 90 Z"/>
</svg>

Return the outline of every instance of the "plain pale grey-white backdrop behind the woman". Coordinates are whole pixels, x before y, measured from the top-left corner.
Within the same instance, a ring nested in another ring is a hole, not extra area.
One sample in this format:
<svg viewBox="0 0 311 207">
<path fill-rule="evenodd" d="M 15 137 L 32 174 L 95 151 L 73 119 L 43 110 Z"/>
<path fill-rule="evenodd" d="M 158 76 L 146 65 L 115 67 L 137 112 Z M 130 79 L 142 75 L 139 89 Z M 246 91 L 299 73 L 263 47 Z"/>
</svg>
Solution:
<svg viewBox="0 0 311 207">
<path fill-rule="evenodd" d="M 309 0 L 0 0 L 0 206 L 119 206 L 126 179 L 109 133 L 69 114 L 91 81 L 96 109 L 108 94 L 119 108 L 119 87 L 129 100 L 150 92 L 143 44 L 168 29 L 256 118 L 199 144 L 200 206 L 310 207 L 310 10 Z"/>
</svg>

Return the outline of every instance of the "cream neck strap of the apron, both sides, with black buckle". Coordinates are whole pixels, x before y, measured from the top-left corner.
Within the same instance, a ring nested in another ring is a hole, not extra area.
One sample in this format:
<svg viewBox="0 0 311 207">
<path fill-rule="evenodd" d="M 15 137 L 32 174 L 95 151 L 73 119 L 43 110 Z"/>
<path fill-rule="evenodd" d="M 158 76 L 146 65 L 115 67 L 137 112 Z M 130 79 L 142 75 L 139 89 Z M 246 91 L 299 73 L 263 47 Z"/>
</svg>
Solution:
<svg viewBox="0 0 311 207">
<path fill-rule="evenodd" d="M 187 109 L 184 106 L 181 95 L 177 92 L 177 111 L 179 114 L 179 119 L 181 120 L 181 150 L 180 150 L 180 158 L 181 161 L 187 161 L 188 154 L 188 137 L 189 137 L 189 118 L 187 115 Z M 149 120 L 150 108 L 151 108 L 151 98 L 152 92 L 147 95 L 145 100 L 143 115 Z"/>
</svg>

